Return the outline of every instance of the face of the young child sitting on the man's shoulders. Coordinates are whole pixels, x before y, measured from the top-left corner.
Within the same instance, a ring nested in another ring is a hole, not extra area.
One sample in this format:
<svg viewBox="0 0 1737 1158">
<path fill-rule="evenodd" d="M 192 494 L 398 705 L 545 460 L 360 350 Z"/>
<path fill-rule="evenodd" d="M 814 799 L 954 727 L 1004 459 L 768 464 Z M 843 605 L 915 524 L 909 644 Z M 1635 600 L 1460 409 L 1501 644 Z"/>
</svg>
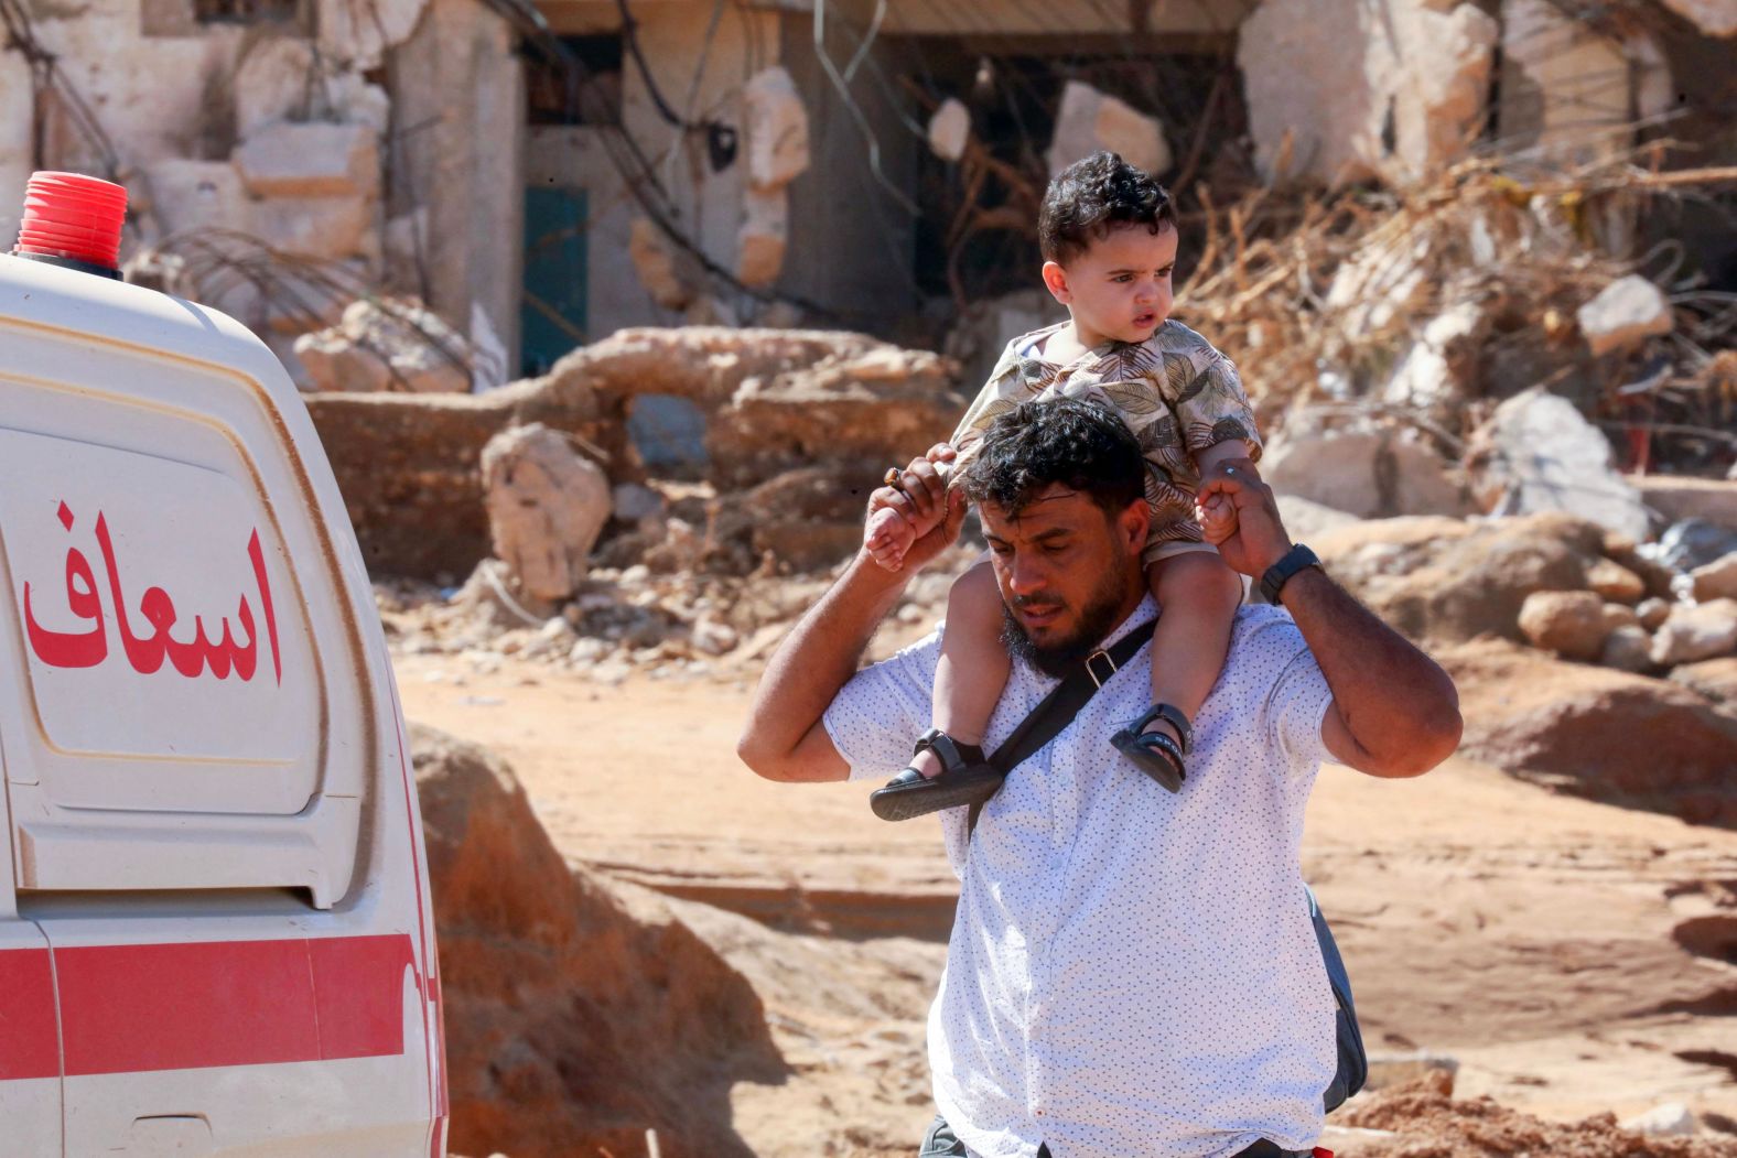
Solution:
<svg viewBox="0 0 1737 1158">
<path fill-rule="evenodd" d="M 1171 316 L 1176 226 L 1119 226 L 1067 266 L 1044 262 L 1044 285 L 1068 307 L 1080 340 L 1145 342 Z"/>
</svg>

